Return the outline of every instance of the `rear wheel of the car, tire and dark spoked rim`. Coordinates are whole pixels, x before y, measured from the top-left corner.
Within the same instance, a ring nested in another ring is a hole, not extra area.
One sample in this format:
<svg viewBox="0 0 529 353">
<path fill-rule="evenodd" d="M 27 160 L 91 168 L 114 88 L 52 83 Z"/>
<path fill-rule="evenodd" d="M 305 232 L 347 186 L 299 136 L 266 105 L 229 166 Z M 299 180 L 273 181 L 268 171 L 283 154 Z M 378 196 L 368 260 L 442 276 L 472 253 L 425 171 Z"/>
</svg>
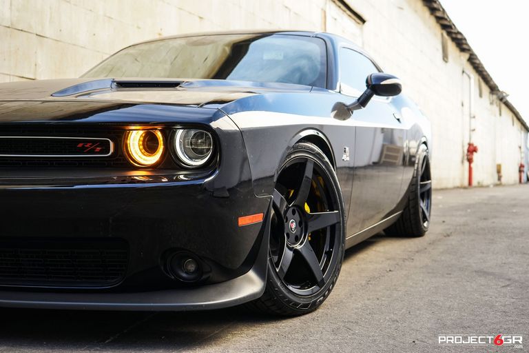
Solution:
<svg viewBox="0 0 529 353">
<path fill-rule="evenodd" d="M 432 211 L 432 179 L 426 145 L 420 145 L 415 161 L 406 206 L 393 225 L 384 230 L 391 236 L 424 236 L 430 227 Z"/>
</svg>

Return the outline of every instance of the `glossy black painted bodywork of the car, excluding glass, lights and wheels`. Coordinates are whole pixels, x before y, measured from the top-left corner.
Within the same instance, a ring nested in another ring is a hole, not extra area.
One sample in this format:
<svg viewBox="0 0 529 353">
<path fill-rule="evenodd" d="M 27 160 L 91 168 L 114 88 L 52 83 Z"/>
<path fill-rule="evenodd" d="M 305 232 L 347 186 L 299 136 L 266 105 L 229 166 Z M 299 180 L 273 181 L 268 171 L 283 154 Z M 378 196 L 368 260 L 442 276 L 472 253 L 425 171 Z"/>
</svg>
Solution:
<svg viewBox="0 0 529 353">
<path fill-rule="evenodd" d="M 340 92 L 340 67 L 346 63 L 340 63 L 338 51 L 362 51 L 331 34 L 287 34 L 325 41 L 326 88 L 121 78 L 0 84 L 0 129 L 13 124 L 203 126 L 214 132 L 220 150 L 214 168 L 196 172 L 0 170 L 0 236 L 118 237 L 128 241 L 132 256 L 125 280 L 113 288 L 74 290 L 74 296 L 66 293 L 71 289 L 6 288 L 0 290 L 0 305 L 187 310 L 256 299 L 266 279 L 267 250 L 262 249 L 268 244 L 268 219 L 243 227 L 237 219 L 268 214 L 278 167 L 298 141 L 318 145 L 335 166 L 346 206 L 347 246 L 395 221 L 417 147 L 430 139 L 427 119 L 403 94 L 373 97 L 364 109 L 339 118 L 337 104 L 358 97 Z M 160 265 L 163 254 L 174 249 L 194 252 L 211 268 L 193 290 Z M 240 283 L 251 288 L 238 288 Z M 39 294 L 33 296 L 34 291 Z M 158 296 L 159 291 L 174 292 Z M 131 292 L 145 295 L 134 301 L 125 295 Z"/>
</svg>

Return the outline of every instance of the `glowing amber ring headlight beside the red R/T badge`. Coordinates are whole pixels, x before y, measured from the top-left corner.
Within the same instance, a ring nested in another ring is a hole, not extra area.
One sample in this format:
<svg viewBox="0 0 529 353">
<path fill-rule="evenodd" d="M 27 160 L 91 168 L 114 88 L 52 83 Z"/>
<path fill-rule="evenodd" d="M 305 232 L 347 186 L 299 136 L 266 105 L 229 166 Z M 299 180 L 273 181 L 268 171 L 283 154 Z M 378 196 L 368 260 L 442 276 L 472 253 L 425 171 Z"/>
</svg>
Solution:
<svg viewBox="0 0 529 353">
<path fill-rule="evenodd" d="M 163 135 L 158 130 L 132 130 L 125 137 L 125 149 L 131 163 L 150 167 L 163 155 Z"/>
</svg>

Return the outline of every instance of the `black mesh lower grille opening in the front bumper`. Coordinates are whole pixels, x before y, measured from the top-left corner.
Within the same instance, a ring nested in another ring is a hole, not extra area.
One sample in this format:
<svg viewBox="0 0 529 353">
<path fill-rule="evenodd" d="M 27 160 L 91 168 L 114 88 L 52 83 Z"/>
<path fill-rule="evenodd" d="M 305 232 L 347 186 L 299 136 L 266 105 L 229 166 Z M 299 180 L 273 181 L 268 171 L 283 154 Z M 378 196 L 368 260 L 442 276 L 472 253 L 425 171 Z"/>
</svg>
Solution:
<svg viewBox="0 0 529 353">
<path fill-rule="evenodd" d="M 1 239 L 0 285 L 109 287 L 125 277 L 128 258 L 122 239 Z"/>
</svg>

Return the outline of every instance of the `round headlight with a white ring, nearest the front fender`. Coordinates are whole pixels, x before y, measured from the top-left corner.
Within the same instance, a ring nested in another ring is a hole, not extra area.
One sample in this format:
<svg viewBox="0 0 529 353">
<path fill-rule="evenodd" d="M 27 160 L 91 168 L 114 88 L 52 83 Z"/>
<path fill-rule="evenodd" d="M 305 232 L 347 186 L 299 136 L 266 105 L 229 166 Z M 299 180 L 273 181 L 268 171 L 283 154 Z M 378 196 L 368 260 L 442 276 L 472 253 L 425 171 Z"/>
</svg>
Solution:
<svg viewBox="0 0 529 353">
<path fill-rule="evenodd" d="M 176 130 L 174 150 L 181 163 L 188 168 L 198 168 L 209 161 L 213 153 L 213 138 L 205 130 Z"/>
</svg>

